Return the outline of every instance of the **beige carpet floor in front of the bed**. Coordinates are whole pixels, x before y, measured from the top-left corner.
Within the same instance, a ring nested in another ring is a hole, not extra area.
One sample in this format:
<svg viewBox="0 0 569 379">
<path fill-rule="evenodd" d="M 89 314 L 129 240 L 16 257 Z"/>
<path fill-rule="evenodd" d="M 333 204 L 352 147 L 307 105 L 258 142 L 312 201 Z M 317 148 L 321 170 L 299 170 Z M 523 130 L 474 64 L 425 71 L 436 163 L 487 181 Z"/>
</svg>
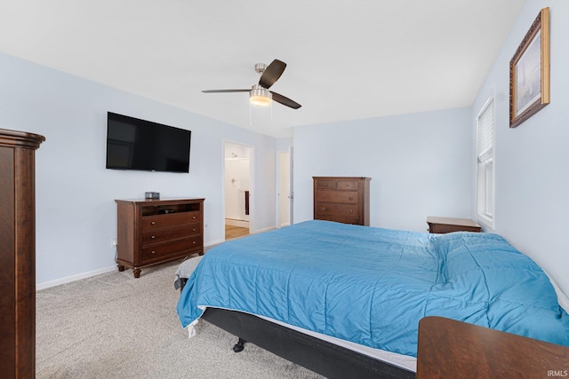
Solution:
<svg viewBox="0 0 569 379">
<path fill-rule="evenodd" d="M 173 288 L 180 262 L 111 272 L 36 295 L 37 378 L 321 378 L 200 321 L 188 338 Z"/>
</svg>

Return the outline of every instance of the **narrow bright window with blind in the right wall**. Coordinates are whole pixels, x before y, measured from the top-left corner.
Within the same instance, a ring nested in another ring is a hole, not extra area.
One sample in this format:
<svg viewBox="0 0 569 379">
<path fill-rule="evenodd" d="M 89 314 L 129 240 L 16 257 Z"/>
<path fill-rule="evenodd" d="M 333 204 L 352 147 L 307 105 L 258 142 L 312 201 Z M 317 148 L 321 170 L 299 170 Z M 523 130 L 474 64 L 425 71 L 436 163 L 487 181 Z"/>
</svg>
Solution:
<svg viewBox="0 0 569 379">
<path fill-rule="evenodd" d="M 488 99 L 477 116 L 477 217 L 494 227 L 494 106 Z"/>
</svg>

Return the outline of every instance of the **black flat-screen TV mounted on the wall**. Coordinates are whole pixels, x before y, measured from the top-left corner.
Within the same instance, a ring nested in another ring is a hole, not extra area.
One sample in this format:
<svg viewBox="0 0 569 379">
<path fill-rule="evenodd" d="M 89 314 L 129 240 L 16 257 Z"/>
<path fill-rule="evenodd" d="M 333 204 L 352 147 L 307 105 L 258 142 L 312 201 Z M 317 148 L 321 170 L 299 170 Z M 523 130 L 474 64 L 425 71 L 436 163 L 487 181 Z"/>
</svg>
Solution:
<svg viewBox="0 0 569 379">
<path fill-rule="evenodd" d="M 108 112 L 107 169 L 189 172 L 191 131 Z"/>
</svg>

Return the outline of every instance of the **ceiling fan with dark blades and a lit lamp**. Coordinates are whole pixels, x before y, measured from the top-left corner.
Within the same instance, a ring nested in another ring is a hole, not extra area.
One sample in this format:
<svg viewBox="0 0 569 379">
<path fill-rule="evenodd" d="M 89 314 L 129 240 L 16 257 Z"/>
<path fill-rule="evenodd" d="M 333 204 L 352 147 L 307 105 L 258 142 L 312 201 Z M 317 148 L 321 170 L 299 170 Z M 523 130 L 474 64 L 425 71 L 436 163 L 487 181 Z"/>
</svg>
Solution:
<svg viewBox="0 0 569 379">
<path fill-rule="evenodd" d="M 253 85 L 250 90 L 205 90 L 204 93 L 227 93 L 227 92 L 249 92 L 249 100 L 253 106 L 267 107 L 271 103 L 271 99 L 277 103 L 281 103 L 286 107 L 298 109 L 301 107 L 299 103 L 284 97 L 283 95 L 268 91 L 281 75 L 283 75 L 286 63 L 282 60 L 275 59 L 270 65 L 264 63 L 257 63 L 255 71 L 260 74 L 259 83 Z"/>
</svg>

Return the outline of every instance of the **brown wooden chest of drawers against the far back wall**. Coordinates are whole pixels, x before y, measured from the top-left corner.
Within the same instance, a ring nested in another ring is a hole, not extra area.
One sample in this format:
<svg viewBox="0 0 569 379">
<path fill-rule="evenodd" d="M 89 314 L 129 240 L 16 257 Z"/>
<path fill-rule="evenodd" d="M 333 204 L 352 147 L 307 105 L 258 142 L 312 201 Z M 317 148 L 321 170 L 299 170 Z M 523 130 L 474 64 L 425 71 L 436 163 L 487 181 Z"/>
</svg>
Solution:
<svg viewBox="0 0 569 379">
<path fill-rule="evenodd" d="M 370 225 L 370 180 L 360 177 L 312 177 L 314 219 Z"/>
</svg>

